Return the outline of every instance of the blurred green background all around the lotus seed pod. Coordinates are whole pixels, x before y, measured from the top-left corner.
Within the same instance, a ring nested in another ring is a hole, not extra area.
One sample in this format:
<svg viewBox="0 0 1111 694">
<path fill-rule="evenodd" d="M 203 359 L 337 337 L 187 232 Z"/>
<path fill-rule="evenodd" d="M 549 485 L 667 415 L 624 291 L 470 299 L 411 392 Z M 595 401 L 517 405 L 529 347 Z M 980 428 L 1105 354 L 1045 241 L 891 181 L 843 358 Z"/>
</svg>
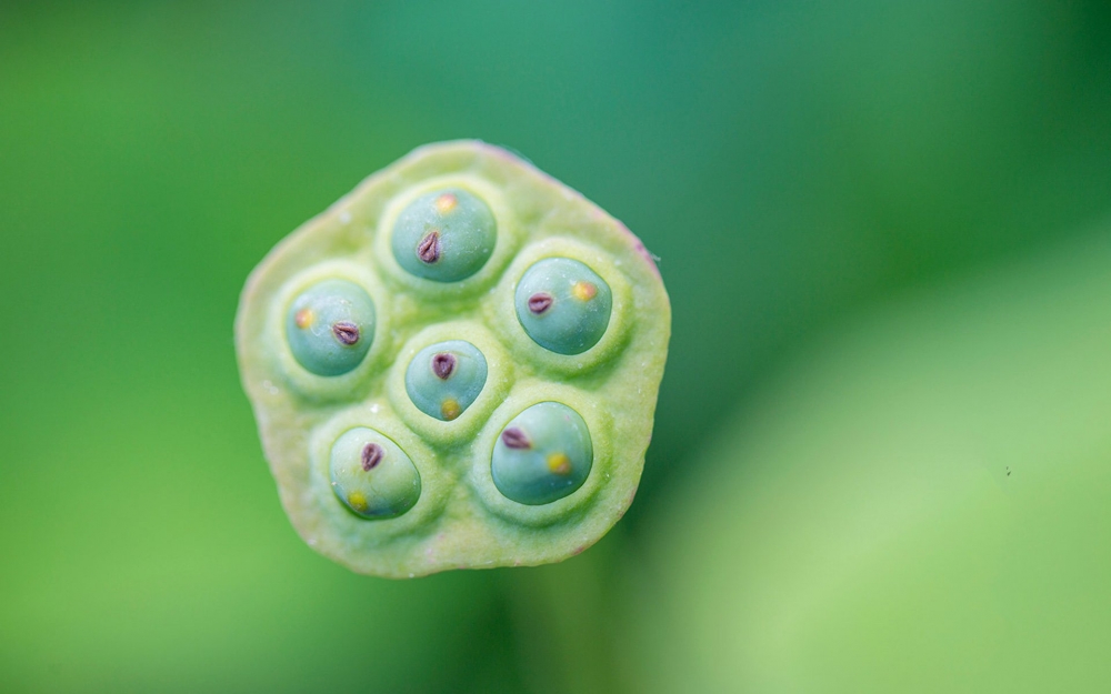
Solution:
<svg viewBox="0 0 1111 694">
<path fill-rule="evenodd" d="M 0 0 L 0 691 L 1111 688 L 1111 10 Z M 278 504 L 251 268 L 429 141 L 661 258 L 637 503 L 351 574 Z"/>
</svg>

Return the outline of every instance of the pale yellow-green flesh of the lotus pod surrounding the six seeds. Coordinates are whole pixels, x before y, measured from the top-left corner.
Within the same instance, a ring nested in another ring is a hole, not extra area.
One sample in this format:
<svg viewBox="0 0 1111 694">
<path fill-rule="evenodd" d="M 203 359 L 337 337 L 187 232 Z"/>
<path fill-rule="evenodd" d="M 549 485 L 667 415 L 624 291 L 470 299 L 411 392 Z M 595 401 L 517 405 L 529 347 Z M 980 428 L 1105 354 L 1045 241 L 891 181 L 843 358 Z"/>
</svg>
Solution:
<svg viewBox="0 0 1111 694">
<path fill-rule="evenodd" d="M 444 189 L 481 195 L 498 243 L 474 274 L 429 282 L 398 263 L 391 234 L 412 200 Z M 517 318 L 517 286 L 546 258 L 587 263 L 610 288 L 609 325 L 581 354 L 543 349 Z M 342 382 L 299 378 L 276 349 L 286 321 L 276 301 L 292 283 L 333 271 L 363 278 L 378 312 L 376 342 Z M 236 338 L 263 450 L 297 531 L 354 571 L 412 577 L 556 562 L 612 527 L 640 482 L 670 330 L 655 264 L 620 222 L 504 150 L 461 141 L 417 150 L 282 241 L 248 280 Z M 471 333 L 487 345 L 487 384 L 458 419 L 429 418 L 409 398 L 411 360 L 399 355 L 416 354 L 417 335 L 434 335 L 423 349 Z M 582 416 L 592 469 L 574 493 L 524 505 L 498 491 L 491 456 L 506 425 L 547 401 Z M 398 517 L 359 519 L 332 492 L 332 446 L 361 426 L 397 442 L 420 475 L 420 497 Z"/>
</svg>

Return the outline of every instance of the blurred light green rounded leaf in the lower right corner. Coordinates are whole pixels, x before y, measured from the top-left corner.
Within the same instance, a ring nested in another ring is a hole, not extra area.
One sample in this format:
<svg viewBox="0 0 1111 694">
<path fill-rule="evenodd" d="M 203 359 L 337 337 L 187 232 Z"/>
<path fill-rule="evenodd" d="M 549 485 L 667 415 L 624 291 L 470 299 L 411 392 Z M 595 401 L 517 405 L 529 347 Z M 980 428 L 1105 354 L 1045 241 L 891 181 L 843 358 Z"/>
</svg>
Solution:
<svg viewBox="0 0 1111 694">
<path fill-rule="evenodd" d="M 1111 233 L 820 341 L 645 529 L 633 690 L 1111 690 L 1109 355 Z"/>
</svg>

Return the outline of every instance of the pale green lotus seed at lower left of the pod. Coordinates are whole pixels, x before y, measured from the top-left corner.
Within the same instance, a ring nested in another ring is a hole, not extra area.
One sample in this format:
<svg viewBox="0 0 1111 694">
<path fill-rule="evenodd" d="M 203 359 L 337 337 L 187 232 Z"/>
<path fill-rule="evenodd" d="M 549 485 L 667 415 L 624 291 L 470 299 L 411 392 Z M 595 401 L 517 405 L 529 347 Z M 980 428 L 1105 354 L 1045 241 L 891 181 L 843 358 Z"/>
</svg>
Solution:
<svg viewBox="0 0 1111 694">
<path fill-rule="evenodd" d="M 349 430 L 332 444 L 332 490 L 364 519 L 392 519 L 420 497 L 420 473 L 397 443 L 373 429 Z"/>
</svg>

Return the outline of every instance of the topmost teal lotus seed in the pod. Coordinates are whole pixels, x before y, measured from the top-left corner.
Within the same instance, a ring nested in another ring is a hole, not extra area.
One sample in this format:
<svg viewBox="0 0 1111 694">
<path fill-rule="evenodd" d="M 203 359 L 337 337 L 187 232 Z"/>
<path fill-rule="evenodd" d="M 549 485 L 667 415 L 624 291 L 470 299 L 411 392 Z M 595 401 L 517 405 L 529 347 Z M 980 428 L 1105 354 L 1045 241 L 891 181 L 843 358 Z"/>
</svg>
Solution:
<svg viewBox="0 0 1111 694">
<path fill-rule="evenodd" d="M 498 241 L 493 213 L 458 188 L 421 195 L 393 227 L 393 257 L 408 272 L 434 282 L 458 282 L 490 259 Z"/>
</svg>

